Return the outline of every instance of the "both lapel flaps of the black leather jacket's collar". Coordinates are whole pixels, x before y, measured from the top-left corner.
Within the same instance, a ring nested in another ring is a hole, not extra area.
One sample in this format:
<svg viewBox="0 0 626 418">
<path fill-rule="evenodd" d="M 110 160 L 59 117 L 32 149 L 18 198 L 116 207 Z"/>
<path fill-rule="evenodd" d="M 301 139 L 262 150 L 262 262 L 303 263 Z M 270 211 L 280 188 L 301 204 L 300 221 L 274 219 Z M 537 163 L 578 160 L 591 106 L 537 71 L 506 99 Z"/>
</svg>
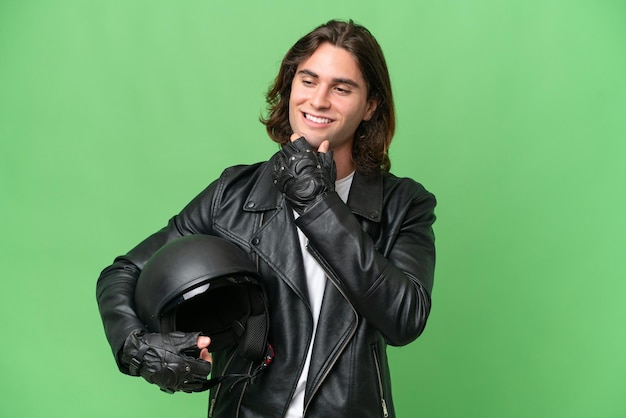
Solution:
<svg viewBox="0 0 626 418">
<path fill-rule="evenodd" d="M 274 162 L 273 158 L 263 164 L 259 170 L 259 176 L 252 186 L 252 190 L 244 204 L 244 210 L 260 212 L 277 209 L 282 206 L 283 197 L 276 193 L 273 182 Z M 354 173 L 348 206 L 352 212 L 369 219 L 380 222 L 383 207 L 383 177 L 382 175 L 365 176 L 358 171 Z"/>
</svg>

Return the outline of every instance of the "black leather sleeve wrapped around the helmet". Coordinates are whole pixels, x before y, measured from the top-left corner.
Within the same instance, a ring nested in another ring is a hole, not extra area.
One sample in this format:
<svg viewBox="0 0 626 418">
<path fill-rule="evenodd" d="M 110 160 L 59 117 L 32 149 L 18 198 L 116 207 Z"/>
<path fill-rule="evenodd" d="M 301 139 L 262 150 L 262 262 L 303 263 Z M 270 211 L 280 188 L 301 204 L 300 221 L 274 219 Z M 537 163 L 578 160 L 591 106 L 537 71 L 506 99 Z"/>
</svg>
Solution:
<svg viewBox="0 0 626 418">
<path fill-rule="evenodd" d="M 120 361 L 126 338 L 134 330 L 145 330 L 134 307 L 137 278 L 152 254 L 170 240 L 183 235 L 210 233 L 210 213 L 215 187 L 216 183 L 207 187 L 178 215 L 170 219 L 167 226 L 146 238 L 126 255 L 117 257 L 98 278 L 96 299 L 100 316 L 117 365 L 123 373 L 128 373 L 127 367 Z"/>
</svg>

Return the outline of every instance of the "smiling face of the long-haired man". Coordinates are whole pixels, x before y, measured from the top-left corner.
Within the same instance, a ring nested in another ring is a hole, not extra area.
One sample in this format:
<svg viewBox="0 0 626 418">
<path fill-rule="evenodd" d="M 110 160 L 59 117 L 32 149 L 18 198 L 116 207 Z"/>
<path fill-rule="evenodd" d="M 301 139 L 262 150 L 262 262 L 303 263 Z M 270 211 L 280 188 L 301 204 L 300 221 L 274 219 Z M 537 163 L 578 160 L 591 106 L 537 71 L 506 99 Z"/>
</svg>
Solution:
<svg viewBox="0 0 626 418">
<path fill-rule="evenodd" d="M 348 51 L 324 43 L 296 69 L 289 97 L 289 123 L 317 148 L 327 139 L 330 149 L 351 155 L 354 133 L 369 120 L 377 102 L 367 99 L 367 86 Z"/>
</svg>

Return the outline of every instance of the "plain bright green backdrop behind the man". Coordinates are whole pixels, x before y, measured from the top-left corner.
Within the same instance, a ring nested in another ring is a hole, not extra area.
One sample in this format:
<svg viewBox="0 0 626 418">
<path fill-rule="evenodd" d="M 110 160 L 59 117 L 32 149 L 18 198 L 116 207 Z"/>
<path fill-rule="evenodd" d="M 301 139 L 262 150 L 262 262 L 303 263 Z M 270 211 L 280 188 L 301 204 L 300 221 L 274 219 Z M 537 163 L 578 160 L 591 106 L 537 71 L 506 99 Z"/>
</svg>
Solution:
<svg viewBox="0 0 626 418">
<path fill-rule="evenodd" d="M 96 279 L 275 152 L 264 92 L 331 18 L 381 43 L 392 171 L 439 202 L 398 415 L 626 416 L 622 0 L 0 0 L 0 416 L 206 415 L 117 371 Z"/>
</svg>

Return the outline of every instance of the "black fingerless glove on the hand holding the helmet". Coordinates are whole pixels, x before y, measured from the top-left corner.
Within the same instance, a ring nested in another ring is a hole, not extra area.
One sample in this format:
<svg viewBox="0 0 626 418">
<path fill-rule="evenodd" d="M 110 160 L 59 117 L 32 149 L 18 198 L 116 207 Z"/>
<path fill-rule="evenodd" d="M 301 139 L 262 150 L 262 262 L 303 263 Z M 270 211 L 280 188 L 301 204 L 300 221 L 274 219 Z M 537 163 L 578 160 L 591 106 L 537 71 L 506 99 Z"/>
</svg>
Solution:
<svg viewBox="0 0 626 418">
<path fill-rule="evenodd" d="M 202 392 L 208 389 L 211 363 L 197 358 L 199 332 L 169 334 L 133 333 L 122 350 L 129 374 L 142 376 L 162 391 Z"/>
</svg>

